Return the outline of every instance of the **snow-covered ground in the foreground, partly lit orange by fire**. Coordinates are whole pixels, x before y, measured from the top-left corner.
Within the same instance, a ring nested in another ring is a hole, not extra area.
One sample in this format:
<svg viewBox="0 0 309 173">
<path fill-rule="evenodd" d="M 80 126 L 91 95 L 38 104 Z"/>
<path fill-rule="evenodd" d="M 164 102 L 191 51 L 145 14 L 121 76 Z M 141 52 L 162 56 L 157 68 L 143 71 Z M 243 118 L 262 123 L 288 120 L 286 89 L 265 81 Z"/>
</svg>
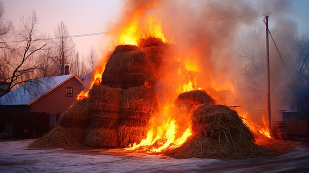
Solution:
<svg viewBox="0 0 309 173">
<path fill-rule="evenodd" d="M 0 141 L 0 173 L 309 172 L 309 148 L 272 158 L 173 159 L 122 149 L 29 149 L 29 140 Z"/>
</svg>

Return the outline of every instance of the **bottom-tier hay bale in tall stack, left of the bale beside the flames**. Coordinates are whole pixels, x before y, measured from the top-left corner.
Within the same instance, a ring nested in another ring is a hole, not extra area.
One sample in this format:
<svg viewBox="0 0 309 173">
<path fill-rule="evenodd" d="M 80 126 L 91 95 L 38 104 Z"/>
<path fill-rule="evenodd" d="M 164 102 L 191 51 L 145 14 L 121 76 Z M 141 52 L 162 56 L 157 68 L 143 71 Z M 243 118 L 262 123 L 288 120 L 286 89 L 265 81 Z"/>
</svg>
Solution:
<svg viewBox="0 0 309 173">
<path fill-rule="evenodd" d="M 88 128 L 84 145 L 94 148 L 118 147 L 117 131 L 106 128 Z"/>
</svg>

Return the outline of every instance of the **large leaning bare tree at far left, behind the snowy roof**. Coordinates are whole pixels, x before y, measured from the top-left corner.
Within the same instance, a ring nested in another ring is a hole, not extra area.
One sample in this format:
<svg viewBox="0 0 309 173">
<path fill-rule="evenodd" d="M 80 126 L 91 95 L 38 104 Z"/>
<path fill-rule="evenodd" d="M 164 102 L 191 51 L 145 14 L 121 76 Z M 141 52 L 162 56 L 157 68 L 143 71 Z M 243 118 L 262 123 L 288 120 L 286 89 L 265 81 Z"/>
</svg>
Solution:
<svg viewBox="0 0 309 173">
<path fill-rule="evenodd" d="M 40 66 L 37 55 L 47 44 L 46 39 L 39 35 L 36 30 L 38 17 L 35 11 L 32 12 L 30 17 L 23 17 L 21 22 L 22 27 L 17 32 L 17 38 L 23 41 L 19 44 L 15 43 L 16 47 L 11 49 L 13 56 L 10 59 L 15 59 L 7 64 L 8 70 L 11 71 L 5 79 L 8 82 L 7 92 L 15 86 L 33 79 L 33 74 Z"/>
</svg>

